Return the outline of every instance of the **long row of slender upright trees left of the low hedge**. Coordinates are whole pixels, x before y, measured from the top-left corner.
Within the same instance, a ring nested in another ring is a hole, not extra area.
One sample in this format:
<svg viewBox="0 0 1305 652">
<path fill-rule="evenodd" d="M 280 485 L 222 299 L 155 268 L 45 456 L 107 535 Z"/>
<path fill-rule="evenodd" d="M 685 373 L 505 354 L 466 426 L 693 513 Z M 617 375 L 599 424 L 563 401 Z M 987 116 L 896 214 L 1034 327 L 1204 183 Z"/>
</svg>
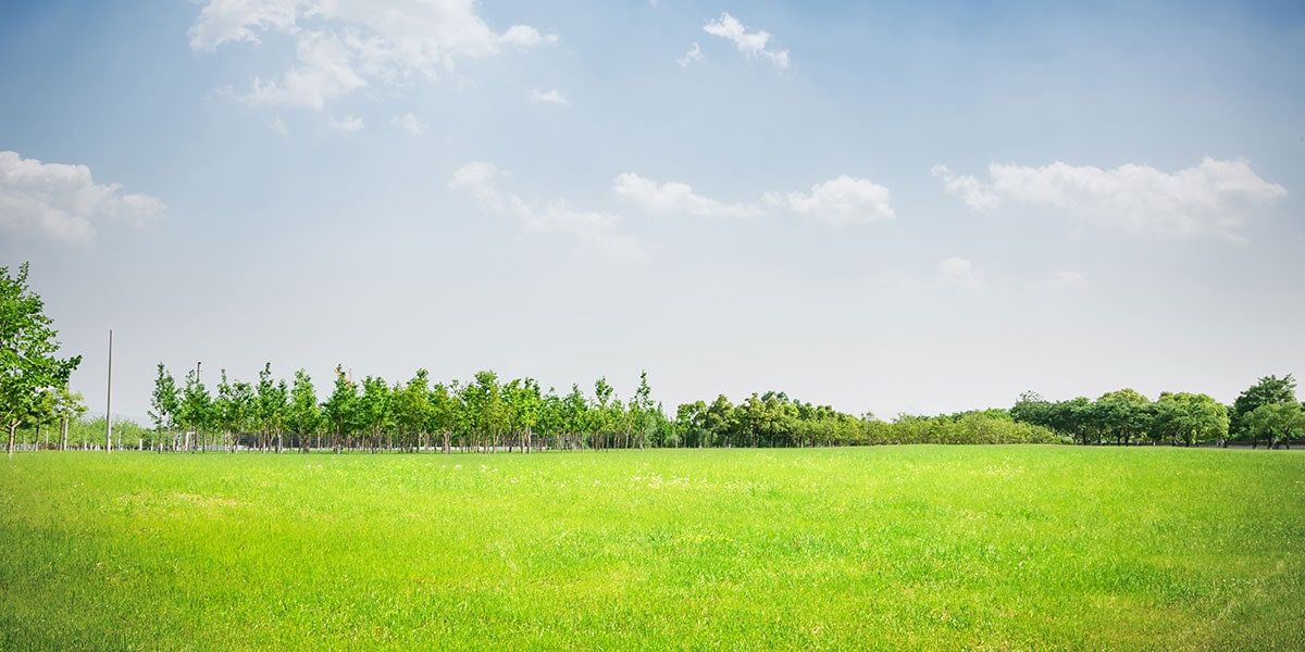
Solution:
<svg viewBox="0 0 1305 652">
<path fill-rule="evenodd" d="M 221 373 L 217 394 L 188 372 L 179 383 L 158 366 L 150 419 L 164 437 L 158 450 L 307 451 L 479 450 L 522 452 L 542 449 L 642 449 L 833 446 L 865 443 L 865 421 L 829 406 L 812 406 L 783 393 L 753 394 L 735 406 L 726 396 L 688 403 L 669 419 L 654 403 L 647 374 L 628 400 L 606 378 L 591 394 L 573 385 L 566 394 L 544 391 L 534 378 L 501 381 L 493 372 L 470 382 L 432 382 L 419 369 L 406 382 L 368 376 L 354 381 L 335 368 L 330 394 L 300 369 L 275 379 L 270 364 L 257 382 Z"/>
</svg>

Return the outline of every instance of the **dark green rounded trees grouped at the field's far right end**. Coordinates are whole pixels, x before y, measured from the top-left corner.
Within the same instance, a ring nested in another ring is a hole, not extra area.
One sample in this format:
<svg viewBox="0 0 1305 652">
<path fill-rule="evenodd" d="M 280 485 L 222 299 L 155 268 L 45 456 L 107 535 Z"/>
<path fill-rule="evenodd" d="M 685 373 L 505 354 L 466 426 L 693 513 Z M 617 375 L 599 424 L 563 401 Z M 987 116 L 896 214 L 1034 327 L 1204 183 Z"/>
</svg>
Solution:
<svg viewBox="0 0 1305 652">
<path fill-rule="evenodd" d="M 1296 400 L 1296 381 L 1267 376 L 1231 406 L 1206 394 L 1163 393 L 1155 402 L 1131 389 L 1049 402 L 1035 393 L 1021 395 L 1010 411 L 1015 421 L 1048 428 L 1077 443 L 1172 442 L 1178 446 L 1229 441 L 1291 447 L 1305 437 L 1305 406 Z"/>
</svg>

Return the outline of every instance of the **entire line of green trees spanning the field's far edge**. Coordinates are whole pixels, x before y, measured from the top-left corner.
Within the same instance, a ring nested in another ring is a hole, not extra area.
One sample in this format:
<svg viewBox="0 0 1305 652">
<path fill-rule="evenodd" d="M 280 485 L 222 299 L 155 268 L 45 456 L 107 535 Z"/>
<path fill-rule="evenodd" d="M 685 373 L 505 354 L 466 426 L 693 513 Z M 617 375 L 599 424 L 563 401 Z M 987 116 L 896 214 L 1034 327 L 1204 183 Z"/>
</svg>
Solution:
<svg viewBox="0 0 1305 652">
<path fill-rule="evenodd" d="M 40 297 L 27 287 L 27 265 L 16 275 L 0 267 L 0 422 L 8 450 L 25 430 L 35 447 L 90 447 L 86 406 L 68 389 L 80 356 L 60 359 L 57 333 Z M 153 429 L 130 424 L 119 443 L 151 450 L 442 450 L 510 451 L 658 447 L 805 447 L 883 443 L 1160 443 L 1193 446 L 1245 441 L 1251 447 L 1291 446 L 1305 438 L 1305 407 L 1291 374 L 1268 376 L 1232 406 L 1205 394 L 1163 393 L 1150 400 L 1125 389 L 1096 400 L 1051 402 L 1021 395 L 1010 409 L 954 415 L 899 415 L 881 421 L 829 406 L 791 399 L 782 391 L 752 394 L 735 404 L 685 403 L 668 415 L 651 398 L 647 374 L 622 400 L 606 378 L 591 394 L 547 391 L 532 378 L 432 382 L 419 369 L 406 382 L 368 376 L 359 382 L 335 368 L 330 394 L 318 398 L 303 369 L 292 381 L 274 378 L 265 364 L 257 382 L 228 379 L 217 391 L 198 369 L 179 383 L 163 364 L 151 395 Z M 104 424 L 99 421 L 100 428 Z M 117 422 L 115 422 L 117 425 Z M 56 430 L 57 429 L 57 430 Z M 57 434 L 56 434 L 57 433 Z M 55 443 L 57 442 L 57 443 Z"/>
</svg>

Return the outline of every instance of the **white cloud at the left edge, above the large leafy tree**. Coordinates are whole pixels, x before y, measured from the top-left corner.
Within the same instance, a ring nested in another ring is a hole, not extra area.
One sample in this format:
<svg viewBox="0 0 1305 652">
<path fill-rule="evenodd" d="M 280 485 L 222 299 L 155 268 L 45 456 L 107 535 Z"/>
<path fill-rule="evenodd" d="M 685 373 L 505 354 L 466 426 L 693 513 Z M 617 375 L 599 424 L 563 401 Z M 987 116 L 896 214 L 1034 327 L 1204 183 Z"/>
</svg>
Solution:
<svg viewBox="0 0 1305 652">
<path fill-rule="evenodd" d="M 86 166 L 42 163 L 0 151 L 0 230 L 82 244 L 95 236 L 97 219 L 117 218 L 145 227 L 167 210 L 162 200 L 123 194 L 121 188 L 97 184 Z"/>
</svg>

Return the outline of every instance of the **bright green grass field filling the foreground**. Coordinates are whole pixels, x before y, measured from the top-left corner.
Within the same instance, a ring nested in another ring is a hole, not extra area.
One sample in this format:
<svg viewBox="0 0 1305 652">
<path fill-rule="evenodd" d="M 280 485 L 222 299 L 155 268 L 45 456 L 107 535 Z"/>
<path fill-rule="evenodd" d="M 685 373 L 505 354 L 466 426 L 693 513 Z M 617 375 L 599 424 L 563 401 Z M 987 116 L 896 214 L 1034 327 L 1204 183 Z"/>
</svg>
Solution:
<svg viewBox="0 0 1305 652">
<path fill-rule="evenodd" d="M 0 649 L 1305 649 L 1305 455 L 0 460 Z"/>
</svg>

